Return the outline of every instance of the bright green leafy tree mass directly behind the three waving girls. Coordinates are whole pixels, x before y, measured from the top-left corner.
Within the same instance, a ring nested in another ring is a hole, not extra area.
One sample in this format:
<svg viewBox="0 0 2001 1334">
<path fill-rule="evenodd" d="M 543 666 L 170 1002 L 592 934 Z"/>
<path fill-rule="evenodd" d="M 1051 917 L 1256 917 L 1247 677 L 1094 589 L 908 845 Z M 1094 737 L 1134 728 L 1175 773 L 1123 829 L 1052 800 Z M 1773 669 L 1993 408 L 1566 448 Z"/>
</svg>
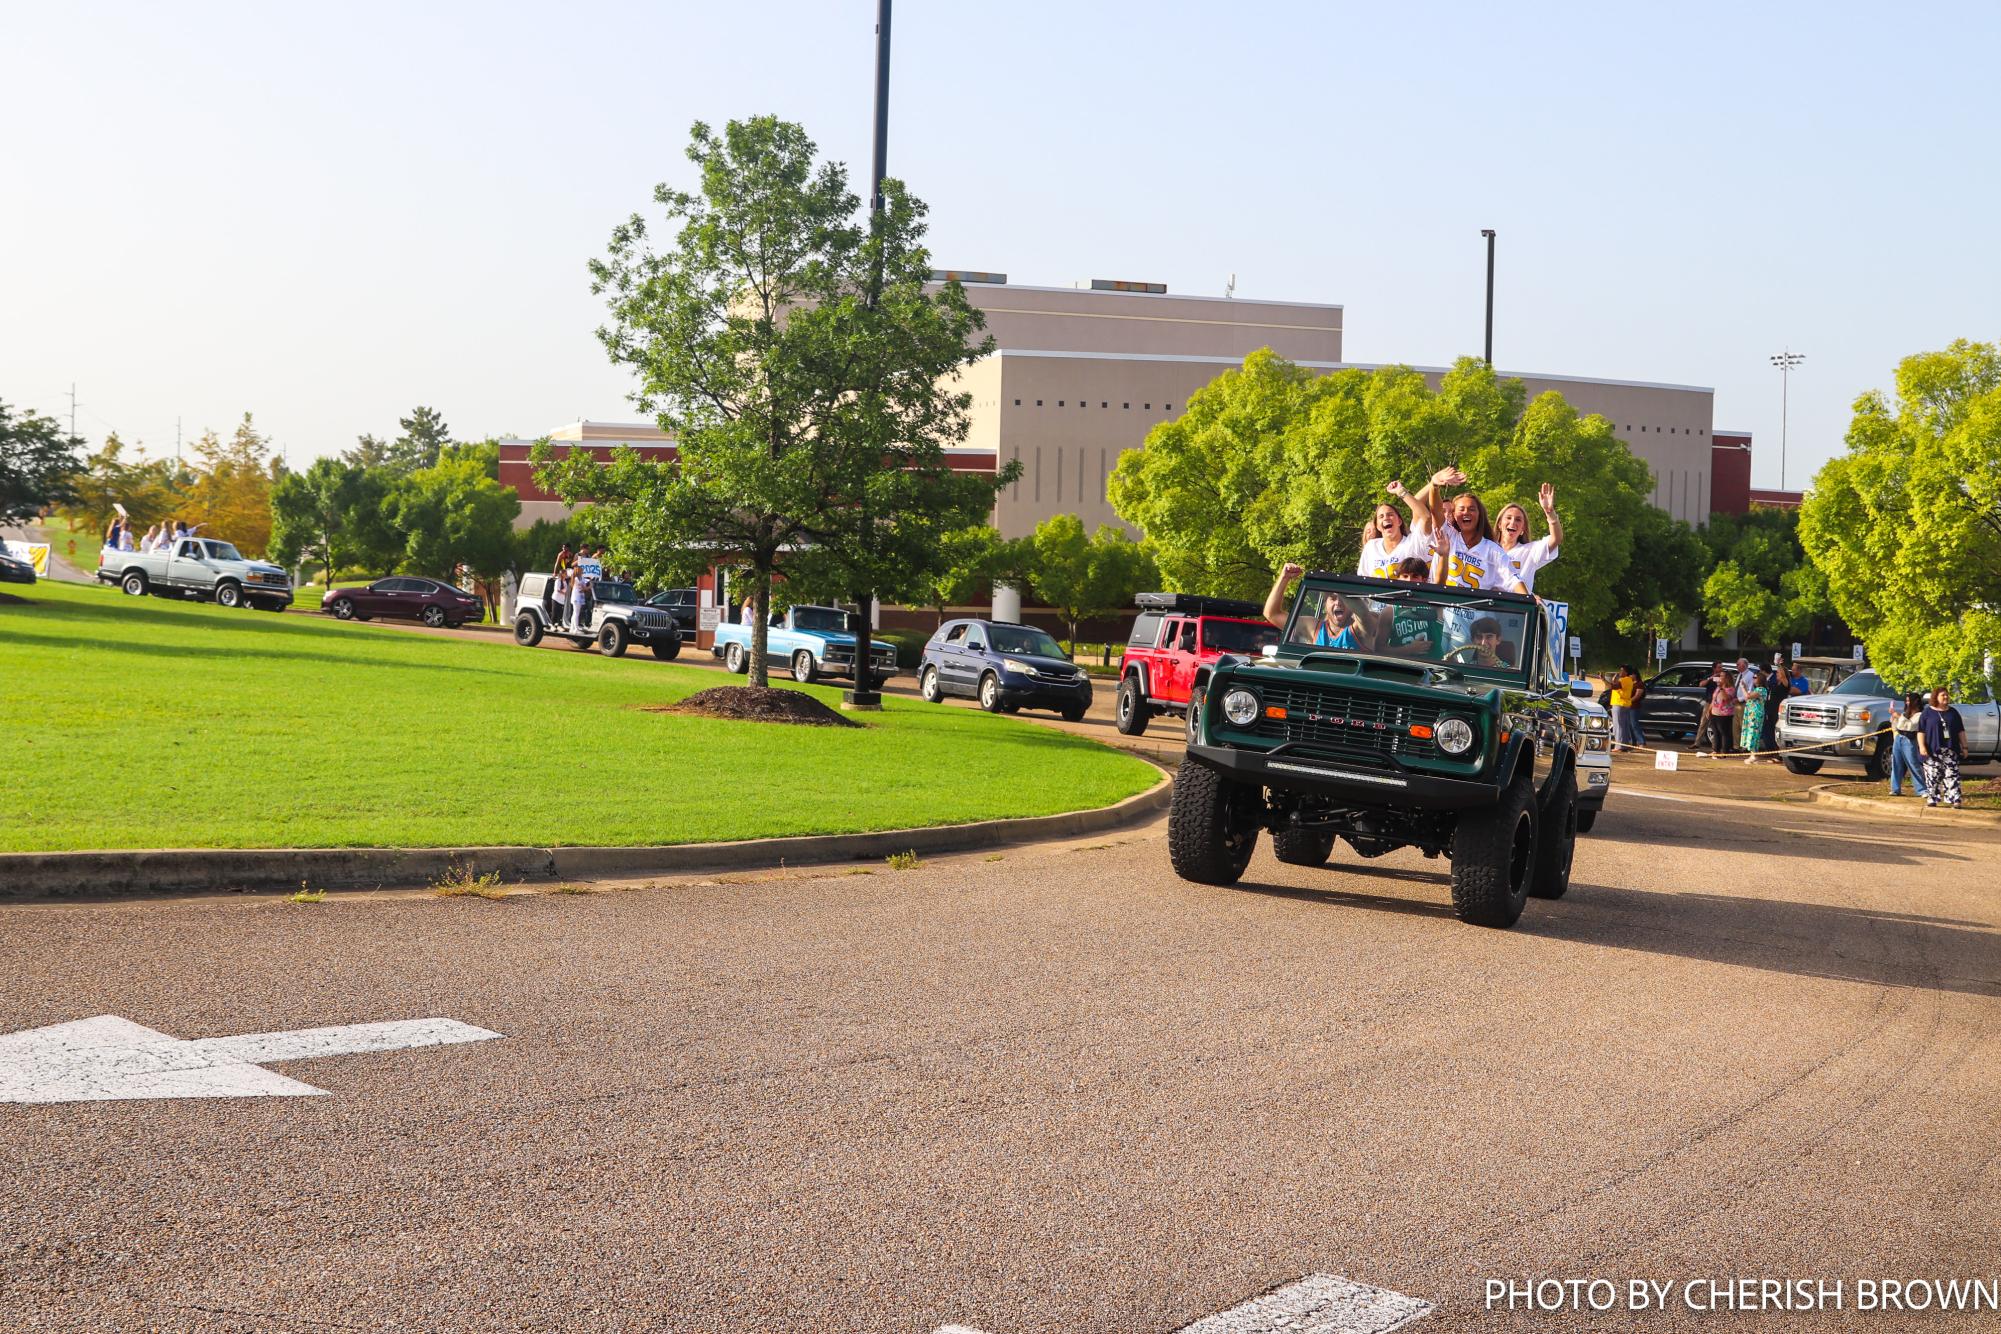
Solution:
<svg viewBox="0 0 2001 1334">
<path fill-rule="evenodd" d="M 1557 484 L 1563 558 L 1537 588 L 1571 602 L 1571 622 L 1607 626 L 1611 588 L 1635 556 L 1653 478 L 1601 416 L 1561 394 L 1527 402 L 1463 358 L 1433 390 L 1409 366 L 1315 376 L 1253 352 L 1161 422 L 1113 472 L 1113 508 L 1147 532 L 1175 590 L 1263 598 L 1287 560 L 1353 570 L 1385 484 L 1419 484 L 1457 464 L 1489 510 Z"/>
</svg>

